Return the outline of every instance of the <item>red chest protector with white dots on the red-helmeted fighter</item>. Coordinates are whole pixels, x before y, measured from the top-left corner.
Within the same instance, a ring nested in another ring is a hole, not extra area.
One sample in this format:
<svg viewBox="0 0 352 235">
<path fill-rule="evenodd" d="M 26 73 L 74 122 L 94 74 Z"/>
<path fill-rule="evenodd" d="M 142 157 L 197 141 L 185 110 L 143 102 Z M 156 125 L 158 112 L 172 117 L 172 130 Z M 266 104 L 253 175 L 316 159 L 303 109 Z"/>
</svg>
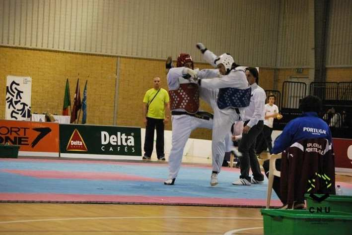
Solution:
<svg viewBox="0 0 352 235">
<path fill-rule="evenodd" d="M 169 91 L 171 110 L 184 109 L 195 114 L 199 109 L 199 89 L 195 83 L 180 84 L 177 90 Z"/>
</svg>

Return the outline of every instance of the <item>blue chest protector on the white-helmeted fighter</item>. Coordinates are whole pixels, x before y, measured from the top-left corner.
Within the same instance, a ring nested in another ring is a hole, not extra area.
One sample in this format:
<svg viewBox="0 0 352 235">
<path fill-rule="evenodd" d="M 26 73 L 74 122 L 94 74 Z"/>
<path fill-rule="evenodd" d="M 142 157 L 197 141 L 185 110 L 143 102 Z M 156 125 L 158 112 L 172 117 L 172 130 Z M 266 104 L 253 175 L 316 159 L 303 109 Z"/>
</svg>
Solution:
<svg viewBox="0 0 352 235">
<path fill-rule="evenodd" d="M 221 88 L 217 96 L 217 107 L 220 110 L 225 108 L 245 108 L 249 106 L 252 89 Z"/>
</svg>

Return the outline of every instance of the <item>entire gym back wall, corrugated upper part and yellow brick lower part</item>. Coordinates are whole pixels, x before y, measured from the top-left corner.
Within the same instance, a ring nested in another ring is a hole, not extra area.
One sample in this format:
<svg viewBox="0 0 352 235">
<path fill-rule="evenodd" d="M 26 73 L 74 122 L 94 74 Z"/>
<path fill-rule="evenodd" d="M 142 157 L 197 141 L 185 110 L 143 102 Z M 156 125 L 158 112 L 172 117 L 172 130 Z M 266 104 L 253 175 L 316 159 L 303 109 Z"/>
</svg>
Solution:
<svg viewBox="0 0 352 235">
<path fill-rule="evenodd" d="M 112 124 L 118 71 L 117 124 L 142 126 L 152 78 L 166 88 L 164 59 L 187 52 L 204 62 L 200 41 L 260 67 L 264 89 L 281 90 L 292 76 L 311 81 L 314 11 L 314 0 L 0 0 L 0 118 L 6 75 L 32 77 L 33 112 L 60 113 L 66 78 L 73 100 L 79 73 L 81 95 L 89 75 L 87 122 Z M 351 11 L 352 1 L 330 1 L 327 81 L 351 81 Z"/>
</svg>

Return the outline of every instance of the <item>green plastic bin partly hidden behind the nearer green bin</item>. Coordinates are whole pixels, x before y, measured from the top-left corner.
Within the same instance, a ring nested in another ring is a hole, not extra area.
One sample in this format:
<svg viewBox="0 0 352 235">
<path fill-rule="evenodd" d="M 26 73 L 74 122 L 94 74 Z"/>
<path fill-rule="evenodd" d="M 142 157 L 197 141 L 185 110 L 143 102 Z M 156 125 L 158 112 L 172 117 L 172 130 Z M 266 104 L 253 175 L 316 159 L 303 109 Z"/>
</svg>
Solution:
<svg viewBox="0 0 352 235">
<path fill-rule="evenodd" d="M 315 195 L 318 197 L 322 196 L 322 194 Z M 304 197 L 307 200 L 308 210 L 311 207 L 313 207 L 314 210 L 316 210 L 316 208 L 323 208 L 324 210 L 325 207 L 329 207 L 330 211 L 342 211 L 352 213 L 352 196 L 330 195 L 322 202 L 314 201 L 312 198 L 309 197 L 309 194 L 304 194 Z"/>
</svg>

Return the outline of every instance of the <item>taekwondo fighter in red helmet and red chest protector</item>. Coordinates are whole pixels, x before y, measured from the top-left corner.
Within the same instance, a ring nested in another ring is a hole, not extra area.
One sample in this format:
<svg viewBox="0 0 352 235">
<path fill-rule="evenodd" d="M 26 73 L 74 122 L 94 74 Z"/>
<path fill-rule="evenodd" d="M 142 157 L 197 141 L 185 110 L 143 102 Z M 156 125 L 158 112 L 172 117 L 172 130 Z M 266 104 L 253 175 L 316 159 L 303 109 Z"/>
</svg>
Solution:
<svg viewBox="0 0 352 235">
<path fill-rule="evenodd" d="M 199 89 L 195 76 L 213 77 L 217 69 L 194 69 L 188 54 L 180 54 L 177 67 L 171 68 L 171 59 L 166 63 L 172 120 L 172 147 L 169 156 L 169 176 L 165 185 L 173 185 L 181 167 L 183 150 L 192 130 L 212 128 L 212 114 L 199 111 L 199 97 L 207 96 Z"/>
</svg>

